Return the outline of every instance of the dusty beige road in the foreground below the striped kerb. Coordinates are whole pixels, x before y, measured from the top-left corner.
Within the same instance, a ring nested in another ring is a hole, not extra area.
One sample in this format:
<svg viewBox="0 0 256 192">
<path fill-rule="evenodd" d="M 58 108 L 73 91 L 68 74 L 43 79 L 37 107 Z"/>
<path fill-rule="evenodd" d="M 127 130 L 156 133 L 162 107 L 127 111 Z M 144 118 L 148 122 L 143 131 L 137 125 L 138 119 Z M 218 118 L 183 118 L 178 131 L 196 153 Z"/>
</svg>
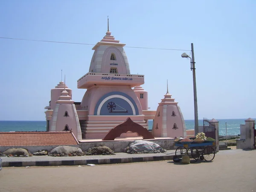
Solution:
<svg viewBox="0 0 256 192">
<path fill-rule="evenodd" d="M 237 149 L 210 163 L 6 167 L 0 192 L 256 192 L 255 162 L 256 150 Z"/>
</svg>

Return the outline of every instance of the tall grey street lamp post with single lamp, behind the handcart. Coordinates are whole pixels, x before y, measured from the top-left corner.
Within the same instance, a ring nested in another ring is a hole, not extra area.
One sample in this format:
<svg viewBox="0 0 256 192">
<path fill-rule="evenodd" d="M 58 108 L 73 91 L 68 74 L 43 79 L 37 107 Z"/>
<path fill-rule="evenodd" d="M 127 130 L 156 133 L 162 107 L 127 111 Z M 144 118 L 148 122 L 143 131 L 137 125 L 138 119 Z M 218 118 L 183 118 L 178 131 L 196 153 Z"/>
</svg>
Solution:
<svg viewBox="0 0 256 192">
<path fill-rule="evenodd" d="M 194 57 L 194 46 L 191 43 L 192 58 L 188 54 L 183 53 L 181 57 L 190 58 L 190 69 L 193 72 L 193 88 L 194 88 L 194 111 L 195 111 L 195 135 L 198 134 L 198 106 L 197 106 L 197 94 L 196 94 L 196 81 L 195 81 L 195 57 Z"/>
</svg>

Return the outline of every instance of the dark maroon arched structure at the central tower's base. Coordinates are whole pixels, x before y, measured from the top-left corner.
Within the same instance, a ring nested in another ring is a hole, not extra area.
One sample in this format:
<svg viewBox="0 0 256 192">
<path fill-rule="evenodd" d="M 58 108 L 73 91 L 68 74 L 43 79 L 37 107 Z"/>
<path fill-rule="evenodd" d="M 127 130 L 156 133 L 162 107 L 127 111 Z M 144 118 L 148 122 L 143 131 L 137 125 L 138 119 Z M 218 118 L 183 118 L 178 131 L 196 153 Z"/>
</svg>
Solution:
<svg viewBox="0 0 256 192">
<path fill-rule="evenodd" d="M 121 123 L 111 129 L 102 140 L 115 140 L 115 138 L 119 137 L 122 133 L 126 133 L 128 131 L 137 132 L 139 136 L 143 137 L 143 139 L 154 139 L 148 129 L 138 123 L 134 123 L 131 118 L 128 117 L 124 123 Z"/>
</svg>

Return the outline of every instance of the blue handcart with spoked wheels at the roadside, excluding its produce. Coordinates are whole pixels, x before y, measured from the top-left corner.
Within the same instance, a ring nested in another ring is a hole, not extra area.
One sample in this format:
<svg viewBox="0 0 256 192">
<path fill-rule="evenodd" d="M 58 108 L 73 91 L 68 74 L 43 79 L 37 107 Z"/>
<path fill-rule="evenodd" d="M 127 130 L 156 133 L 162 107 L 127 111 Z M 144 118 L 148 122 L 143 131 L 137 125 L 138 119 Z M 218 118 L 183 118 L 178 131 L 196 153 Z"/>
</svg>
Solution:
<svg viewBox="0 0 256 192">
<path fill-rule="evenodd" d="M 175 143 L 178 148 L 175 151 L 176 157 L 189 155 L 190 163 L 195 163 L 200 158 L 201 160 L 212 161 L 215 157 L 215 142 L 204 143 Z"/>
</svg>

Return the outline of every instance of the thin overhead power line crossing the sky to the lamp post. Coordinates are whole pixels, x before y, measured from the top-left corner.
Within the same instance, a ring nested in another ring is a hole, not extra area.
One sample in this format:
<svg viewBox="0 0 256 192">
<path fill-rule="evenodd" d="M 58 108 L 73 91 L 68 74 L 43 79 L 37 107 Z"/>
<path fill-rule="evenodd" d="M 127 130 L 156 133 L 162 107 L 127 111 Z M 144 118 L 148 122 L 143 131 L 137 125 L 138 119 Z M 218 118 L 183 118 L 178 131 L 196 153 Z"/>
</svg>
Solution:
<svg viewBox="0 0 256 192">
<path fill-rule="evenodd" d="M 26 41 L 39 41 L 39 42 L 48 42 L 48 43 L 67 43 L 67 44 L 78 44 L 78 45 L 92 45 L 95 44 L 90 43 L 73 43 L 73 42 L 62 42 L 62 41 L 47 41 L 47 40 L 33 40 L 33 39 L 20 39 L 20 38 L 10 38 L 10 37 L 0 37 L 1 39 L 12 39 L 12 40 L 26 40 Z M 172 51 L 191 51 L 187 49 L 164 49 L 164 48 L 152 48 L 152 47 L 132 47 L 132 46 L 125 46 L 128 48 L 136 48 L 136 49 L 160 49 L 160 50 L 172 50 Z"/>
</svg>

